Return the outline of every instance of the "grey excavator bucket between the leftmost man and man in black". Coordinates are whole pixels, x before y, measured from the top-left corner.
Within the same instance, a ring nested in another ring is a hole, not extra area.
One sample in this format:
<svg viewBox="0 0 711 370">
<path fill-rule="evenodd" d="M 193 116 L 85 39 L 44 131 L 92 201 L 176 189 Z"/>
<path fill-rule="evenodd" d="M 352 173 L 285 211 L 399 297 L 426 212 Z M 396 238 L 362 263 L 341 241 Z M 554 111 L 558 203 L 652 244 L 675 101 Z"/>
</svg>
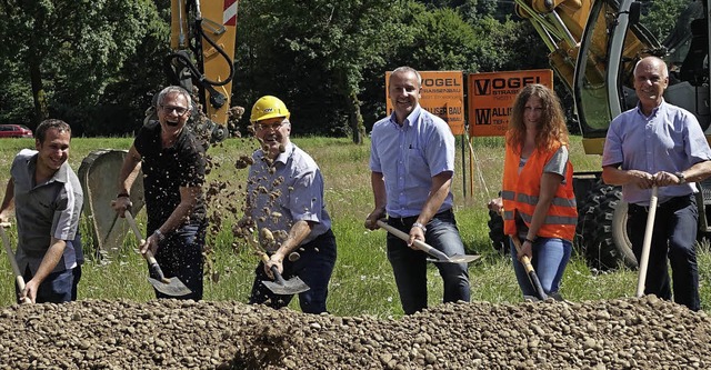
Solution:
<svg viewBox="0 0 711 370">
<path fill-rule="evenodd" d="M 116 199 L 119 173 L 126 150 L 100 149 L 90 152 L 79 167 L 79 182 L 84 192 L 83 214 L 89 220 L 89 233 L 97 251 L 114 253 L 123 246 L 129 224 L 111 208 Z M 139 173 L 131 188 L 131 211 L 143 208 L 143 176 Z"/>
</svg>

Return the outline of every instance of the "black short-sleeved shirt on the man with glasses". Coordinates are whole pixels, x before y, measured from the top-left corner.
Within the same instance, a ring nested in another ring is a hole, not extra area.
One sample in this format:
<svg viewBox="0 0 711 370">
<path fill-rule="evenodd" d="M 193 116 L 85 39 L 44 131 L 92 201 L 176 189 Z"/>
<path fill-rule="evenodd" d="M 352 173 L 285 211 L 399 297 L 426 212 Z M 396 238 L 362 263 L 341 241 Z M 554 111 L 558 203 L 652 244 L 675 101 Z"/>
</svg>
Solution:
<svg viewBox="0 0 711 370">
<path fill-rule="evenodd" d="M 158 121 L 143 126 L 133 141 L 141 154 L 148 231 L 159 228 L 180 204 L 181 187 L 201 187 L 204 183 L 204 148 L 196 136 L 184 128 L 170 148 L 161 146 Z M 190 221 L 203 221 L 206 204 L 202 192 L 190 214 Z"/>
</svg>

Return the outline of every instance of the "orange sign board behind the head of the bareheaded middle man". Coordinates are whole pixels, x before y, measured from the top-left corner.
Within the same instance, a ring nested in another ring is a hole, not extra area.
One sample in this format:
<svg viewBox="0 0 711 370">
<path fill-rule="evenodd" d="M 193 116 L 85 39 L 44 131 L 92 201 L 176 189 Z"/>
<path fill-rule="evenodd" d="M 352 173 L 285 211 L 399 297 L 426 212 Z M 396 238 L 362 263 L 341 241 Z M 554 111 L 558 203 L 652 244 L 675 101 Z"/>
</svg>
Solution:
<svg viewBox="0 0 711 370">
<path fill-rule="evenodd" d="M 464 134 L 464 80 L 462 71 L 419 71 L 422 76 L 420 106 L 449 124 L 454 136 Z M 390 101 L 390 73 L 385 72 L 385 102 Z"/>
</svg>

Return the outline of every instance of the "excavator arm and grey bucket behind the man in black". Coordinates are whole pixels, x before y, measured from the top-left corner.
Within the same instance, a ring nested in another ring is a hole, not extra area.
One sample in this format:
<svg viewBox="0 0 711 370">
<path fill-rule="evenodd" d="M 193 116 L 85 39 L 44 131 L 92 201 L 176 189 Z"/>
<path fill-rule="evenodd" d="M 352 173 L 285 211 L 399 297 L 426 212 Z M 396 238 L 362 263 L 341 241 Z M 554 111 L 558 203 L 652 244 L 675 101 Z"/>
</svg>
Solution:
<svg viewBox="0 0 711 370">
<path fill-rule="evenodd" d="M 206 148 L 224 140 L 228 122 L 239 120 L 240 107 L 230 107 L 234 77 L 238 0 L 171 0 L 171 52 L 164 58 L 167 86 L 190 91 L 192 114 L 187 127 L 202 139 Z M 157 98 L 157 97 L 156 97 Z M 156 98 L 146 120 L 156 120 Z M 109 206 L 116 197 L 118 174 L 127 150 L 102 149 L 82 160 L 79 180 L 84 192 L 89 238 L 102 254 L 122 248 L 128 226 Z M 142 176 L 131 189 L 132 210 L 144 204 Z"/>
</svg>

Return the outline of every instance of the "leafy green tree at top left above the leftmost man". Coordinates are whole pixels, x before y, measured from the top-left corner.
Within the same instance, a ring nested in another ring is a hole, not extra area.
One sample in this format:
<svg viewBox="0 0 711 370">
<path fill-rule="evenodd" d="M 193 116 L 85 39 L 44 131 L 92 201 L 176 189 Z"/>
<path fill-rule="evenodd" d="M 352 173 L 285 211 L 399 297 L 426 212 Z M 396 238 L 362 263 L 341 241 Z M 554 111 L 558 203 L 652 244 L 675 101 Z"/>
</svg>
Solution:
<svg viewBox="0 0 711 370">
<path fill-rule="evenodd" d="M 33 124 L 53 116 L 87 122 L 87 107 L 99 101 L 134 53 L 146 29 L 150 0 L 4 0 L 12 20 L 0 28 L 3 58 L 16 58 L 17 78 L 31 87 Z M 33 126 L 32 124 L 32 126 Z M 80 130 L 81 131 L 81 130 Z"/>
</svg>

